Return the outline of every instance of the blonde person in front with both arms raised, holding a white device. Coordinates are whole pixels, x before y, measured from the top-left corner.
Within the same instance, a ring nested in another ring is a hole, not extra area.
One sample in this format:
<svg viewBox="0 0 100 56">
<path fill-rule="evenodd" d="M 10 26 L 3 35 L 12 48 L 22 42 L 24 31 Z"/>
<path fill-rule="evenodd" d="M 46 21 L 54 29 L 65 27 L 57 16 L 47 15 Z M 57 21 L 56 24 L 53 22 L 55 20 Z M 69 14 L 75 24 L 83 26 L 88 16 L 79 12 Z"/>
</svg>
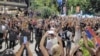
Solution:
<svg viewBox="0 0 100 56">
<path fill-rule="evenodd" d="M 47 39 L 47 45 L 44 43 Z M 55 47 L 56 46 L 56 47 Z M 54 31 L 47 31 L 41 39 L 40 49 L 44 56 L 63 56 L 62 40 Z"/>
</svg>

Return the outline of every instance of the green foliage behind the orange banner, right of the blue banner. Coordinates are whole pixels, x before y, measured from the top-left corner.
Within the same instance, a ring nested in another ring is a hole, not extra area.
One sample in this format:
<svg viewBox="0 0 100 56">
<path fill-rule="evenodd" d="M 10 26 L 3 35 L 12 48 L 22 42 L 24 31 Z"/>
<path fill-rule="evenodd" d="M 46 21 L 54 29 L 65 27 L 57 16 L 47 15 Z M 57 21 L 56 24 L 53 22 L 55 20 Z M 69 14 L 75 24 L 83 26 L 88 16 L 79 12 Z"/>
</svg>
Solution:
<svg viewBox="0 0 100 56">
<path fill-rule="evenodd" d="M 84 12 L 98 13 L 100 11 L 100 0 L 67 0 L 69 14 L 70 12 L 74 13 L 77 5 L 79 5 Z M 71 7 L 73 7 L 73 9 Z"/>
</svg>

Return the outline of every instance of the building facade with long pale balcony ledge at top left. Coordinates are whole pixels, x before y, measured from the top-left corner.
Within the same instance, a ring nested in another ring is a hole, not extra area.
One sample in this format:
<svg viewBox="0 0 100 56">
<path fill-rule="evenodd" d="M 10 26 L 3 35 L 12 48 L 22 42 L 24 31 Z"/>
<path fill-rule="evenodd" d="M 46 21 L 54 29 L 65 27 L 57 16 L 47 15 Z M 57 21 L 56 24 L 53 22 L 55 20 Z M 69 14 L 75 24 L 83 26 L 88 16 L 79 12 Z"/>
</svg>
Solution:
<svg viewBox="0 0 100 56">
<path fill-rule="evenodd" d="M 26 0 L 0 0 L 0 13 L 11 14 L 18 8 L 27 8 Z"/>
</svg>

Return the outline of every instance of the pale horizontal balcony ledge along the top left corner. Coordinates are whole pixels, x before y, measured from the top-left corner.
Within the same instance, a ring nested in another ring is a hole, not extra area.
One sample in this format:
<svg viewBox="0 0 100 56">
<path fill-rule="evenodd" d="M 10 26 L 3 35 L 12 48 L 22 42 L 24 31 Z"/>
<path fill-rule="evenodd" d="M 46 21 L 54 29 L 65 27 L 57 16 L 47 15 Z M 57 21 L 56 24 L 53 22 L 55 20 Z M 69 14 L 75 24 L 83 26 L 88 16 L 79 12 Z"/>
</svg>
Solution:
<svg viewBox="0 0 100 56">
<path fill-rule="evenodd" d="M 17 7 L 27 7 L 23 0 L 0 0 L 0 5 L 4 6 L 17 6 Z"/>
</svg>

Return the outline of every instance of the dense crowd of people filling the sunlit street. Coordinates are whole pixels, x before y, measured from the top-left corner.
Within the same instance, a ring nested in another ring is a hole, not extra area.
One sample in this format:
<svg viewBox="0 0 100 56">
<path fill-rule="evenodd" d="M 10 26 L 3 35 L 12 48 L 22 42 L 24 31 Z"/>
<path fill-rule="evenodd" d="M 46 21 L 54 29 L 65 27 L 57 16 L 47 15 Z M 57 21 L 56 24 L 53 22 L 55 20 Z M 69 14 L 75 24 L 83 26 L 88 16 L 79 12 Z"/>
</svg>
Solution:
<svg viewBox="0 0 100 56">
<path fill-rule="evenodd" d="M 99 18 L 1 16 L 0 49 L 2 43 L 6 43 L 2 56 L 33 56 L 29 48 L 34 42 L 33 33 L 36 40 L 34 51 L 38 56 L 84 56 L 83 45 L 90 56 L 100 56 Z M 93 43 L 93 47 L 88 41 Z M 20 49 L 14 53 L 18 44 Z"/>
</svg>

